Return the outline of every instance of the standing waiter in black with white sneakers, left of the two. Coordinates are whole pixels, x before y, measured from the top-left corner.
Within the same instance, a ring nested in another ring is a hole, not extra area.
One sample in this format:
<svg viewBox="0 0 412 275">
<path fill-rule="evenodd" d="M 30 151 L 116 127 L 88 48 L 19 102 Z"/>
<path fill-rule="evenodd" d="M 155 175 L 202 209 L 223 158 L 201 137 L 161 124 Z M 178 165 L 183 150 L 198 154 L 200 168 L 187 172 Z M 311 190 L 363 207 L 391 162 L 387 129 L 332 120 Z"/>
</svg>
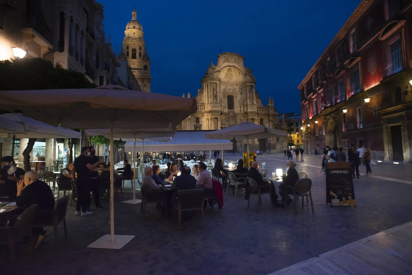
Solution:
<svg viewBox="0 0 412 275">
<path fill-rule="evenodd" d="M 90 150 L 89 147 L 82 147 L 81 155 L 75 159 L 73 163 L 73 183 L 77 186 L 77 203 L 75 216 L 88 216 L 93 214 L 93 212 L 87 211 L 88 201 L 90 197 L 90 179 L 89 170 L 94 169 L 97 165 L 102 164 L 103 160 L 96 162 L 91 165 L 89 163 Z M 77 175 L 76 175 L 77 173 Z M 80 208 L 82 212 L 80 212 Z"/>
</svg>

